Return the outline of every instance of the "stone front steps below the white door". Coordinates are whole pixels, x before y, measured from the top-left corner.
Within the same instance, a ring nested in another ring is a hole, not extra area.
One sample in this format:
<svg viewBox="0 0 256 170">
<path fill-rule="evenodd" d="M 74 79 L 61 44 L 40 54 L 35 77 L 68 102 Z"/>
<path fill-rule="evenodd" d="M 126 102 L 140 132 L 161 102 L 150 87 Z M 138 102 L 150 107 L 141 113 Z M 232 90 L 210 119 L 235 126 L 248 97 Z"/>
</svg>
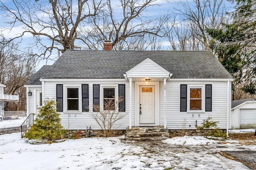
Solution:
<svg viewBox="0 0 256 170">
<path fill-rule="evenodd" d="M 164 126 L 152 126 L 152 127 L 138 127 L 132 126 L 126 128 L 125 134 L 126 140 L 136 141 L 156 141 L 168 139 L 170 134 L 168 129 L 164 129 Z"/>
</svg>

